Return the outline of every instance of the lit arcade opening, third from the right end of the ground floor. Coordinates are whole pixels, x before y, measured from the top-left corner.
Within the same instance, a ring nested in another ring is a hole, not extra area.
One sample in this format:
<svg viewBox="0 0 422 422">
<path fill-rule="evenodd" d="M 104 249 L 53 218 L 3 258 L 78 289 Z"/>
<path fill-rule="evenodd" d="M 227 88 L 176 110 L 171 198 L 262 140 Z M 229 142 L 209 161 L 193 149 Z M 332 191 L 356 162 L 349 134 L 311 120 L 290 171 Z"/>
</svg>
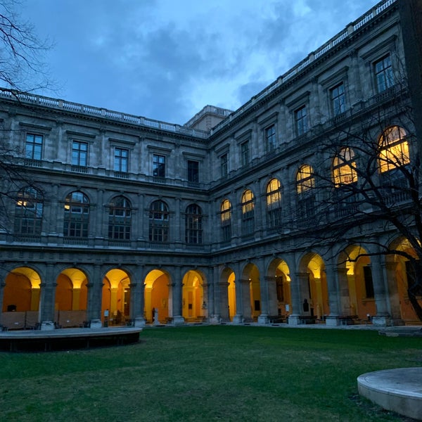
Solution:
<svg viewBox="0 0 422 422">
<path fill-rule="evenodd" d="M 302 297 L 300 312 L 305 316 L 324 319 L 330 314 L 330 307 L 325 264 L 320 255 L 308 253 L 302 258 L 299 281 Z"/>
</svg>

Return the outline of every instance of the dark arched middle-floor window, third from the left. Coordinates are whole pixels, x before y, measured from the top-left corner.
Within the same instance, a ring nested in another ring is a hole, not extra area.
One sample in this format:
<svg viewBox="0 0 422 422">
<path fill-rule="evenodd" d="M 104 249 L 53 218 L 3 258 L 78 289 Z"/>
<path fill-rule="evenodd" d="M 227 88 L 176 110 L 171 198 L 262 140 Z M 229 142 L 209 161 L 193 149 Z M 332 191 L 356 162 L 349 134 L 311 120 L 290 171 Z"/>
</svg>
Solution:
<svg viewBox="0 0 422 422">
<path fill-rule="evenodd" d="M 111 200 L 108 212 L 108 238 L 117 241 L 130 240 L 132 222 L 131 204 L 124 196 Z"/>
</svg>

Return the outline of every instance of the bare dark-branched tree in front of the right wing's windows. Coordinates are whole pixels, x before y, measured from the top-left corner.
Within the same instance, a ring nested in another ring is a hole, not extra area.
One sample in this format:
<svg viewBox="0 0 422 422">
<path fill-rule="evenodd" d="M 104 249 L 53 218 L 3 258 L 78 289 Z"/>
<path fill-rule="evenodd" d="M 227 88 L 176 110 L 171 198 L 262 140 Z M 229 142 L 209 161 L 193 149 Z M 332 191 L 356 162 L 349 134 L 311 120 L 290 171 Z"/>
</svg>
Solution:
<svg viewBox="0 0 422 422">
<path fill-rule="evenodd" d="M 416 298 L 422 295 L 422 176 L 414 114 L 404 83 L 383 96 L 362 113 L 334 120 L 319 144 L 322 165 L 307 170 L 302 197 L 316 227 L 313 242 L 359 244 L 359 255 L 348 257 L 354 261 L 400 255 L 411 262 L 408 295 L 422 321 Z M 378 241 L 384 232 L 398 233 L 411 249 Z M 366 252 L 370 245 L 377 252 Z"/>
</svg>

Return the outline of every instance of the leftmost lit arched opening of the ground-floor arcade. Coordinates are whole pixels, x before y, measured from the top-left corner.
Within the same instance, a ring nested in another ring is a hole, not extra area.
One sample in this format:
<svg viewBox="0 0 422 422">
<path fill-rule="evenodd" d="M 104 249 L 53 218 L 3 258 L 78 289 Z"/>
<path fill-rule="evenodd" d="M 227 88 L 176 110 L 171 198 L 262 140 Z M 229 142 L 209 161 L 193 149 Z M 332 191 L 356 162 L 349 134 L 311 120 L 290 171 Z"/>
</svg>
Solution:
<svg viewBox="0 0 422 422">
<path fill-rule="evenodd" d="M 5 282 L 1 325 L 8 329 L 37 326 L 41 283 L 37 271 L 29 267 L 13 269 Z"/>
</svg>

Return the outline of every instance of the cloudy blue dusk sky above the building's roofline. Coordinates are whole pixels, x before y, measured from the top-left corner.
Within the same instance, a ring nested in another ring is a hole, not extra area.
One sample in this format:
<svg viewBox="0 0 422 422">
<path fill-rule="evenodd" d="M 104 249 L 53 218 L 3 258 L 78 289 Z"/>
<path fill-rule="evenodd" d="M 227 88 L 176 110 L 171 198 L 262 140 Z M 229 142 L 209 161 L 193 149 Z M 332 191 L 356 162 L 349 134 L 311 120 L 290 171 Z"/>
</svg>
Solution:
<svg viewBox="0 0 422 422">
<path fill-rule="evenodd" d="M 53 47 L 38 94 L 176 124 L 236 110 L 376 0 L 23 0 Z"/>
</svg>

